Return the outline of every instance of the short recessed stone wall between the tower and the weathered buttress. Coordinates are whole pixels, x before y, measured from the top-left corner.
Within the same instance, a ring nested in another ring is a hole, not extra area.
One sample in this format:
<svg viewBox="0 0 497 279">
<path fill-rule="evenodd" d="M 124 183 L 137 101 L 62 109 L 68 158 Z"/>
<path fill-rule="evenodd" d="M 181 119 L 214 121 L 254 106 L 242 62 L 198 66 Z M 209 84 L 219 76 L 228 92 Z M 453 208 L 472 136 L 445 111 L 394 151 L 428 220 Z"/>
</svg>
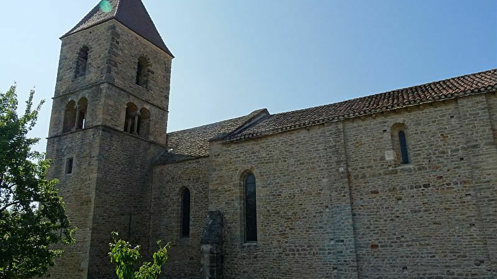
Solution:
<svg viewBox="0 0 497 279">
<path fill-rule="evenodd" d="M 208 212 L 209 159 L 155 166 L 152 183 L 151 246 L 172 242 L 166 278 L 198 279 L 200 238 Z M 190 237 L 180 238 L 181 192 L 190 191 Z"/>
</svg>

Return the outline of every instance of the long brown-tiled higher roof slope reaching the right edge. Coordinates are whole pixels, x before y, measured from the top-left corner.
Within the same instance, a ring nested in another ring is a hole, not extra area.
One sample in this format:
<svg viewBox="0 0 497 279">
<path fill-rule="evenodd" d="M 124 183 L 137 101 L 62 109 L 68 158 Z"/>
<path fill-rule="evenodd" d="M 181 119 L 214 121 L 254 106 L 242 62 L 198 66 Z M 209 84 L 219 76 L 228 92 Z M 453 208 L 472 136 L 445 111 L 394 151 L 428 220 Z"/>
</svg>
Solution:
<svg viewBox="0 0 497 279">
<path fill-rule="evenodd" d="M 339 103 L 268 115 L 226 141 L 257 138 L 325 122 L 453 99 L 497 88 L 497 69 L 397 89 Z"/>
</svg>

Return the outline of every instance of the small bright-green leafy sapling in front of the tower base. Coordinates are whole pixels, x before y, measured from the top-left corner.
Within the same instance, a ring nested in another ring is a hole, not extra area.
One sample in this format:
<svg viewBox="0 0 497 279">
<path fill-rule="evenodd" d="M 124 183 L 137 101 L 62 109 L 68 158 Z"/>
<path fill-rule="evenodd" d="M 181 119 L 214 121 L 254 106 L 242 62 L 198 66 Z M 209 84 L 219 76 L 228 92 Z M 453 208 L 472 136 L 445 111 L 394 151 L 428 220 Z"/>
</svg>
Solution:
<svg viewBox="0 0 497 279">
<path fill-rule="evenodd" d="M 112 232 L 114 239 L 110 243 L 110 262 L 116 263 L 116 274 L 119 279 L 157 279 L 162 271 L 162 266 L 167 261 L 167 249 L 170 243 L 162 247 L 161 241 L 157 242 L 159 250 L 154 253 L 154 262 L 143 262 L 142 266 L 136 270 L 142 257 L 140 256 L 140 246 L 131 248 L 131 244 L 119 238 L 117 232 Z"/>
</svg>

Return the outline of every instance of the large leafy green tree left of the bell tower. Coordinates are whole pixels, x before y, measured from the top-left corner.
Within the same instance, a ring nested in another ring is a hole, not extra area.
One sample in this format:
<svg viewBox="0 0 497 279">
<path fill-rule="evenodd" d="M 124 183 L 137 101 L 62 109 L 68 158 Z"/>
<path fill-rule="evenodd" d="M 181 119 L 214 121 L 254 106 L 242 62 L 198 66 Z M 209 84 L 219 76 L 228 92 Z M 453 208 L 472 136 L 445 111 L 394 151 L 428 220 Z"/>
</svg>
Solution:
<svg viewBox="0 0 497 279">
<path fill-rule="evenodd" d="M 61 249 L 74 242 L 73 228 L 57 180 L 46 180 L 49 161 L 31 150 L 39 139 L 28 138 L 43 105 L 33 108 L 31 90 L 22 115 L 17 114 L 16 86 L 0 93 L 0 278 L 42 276 Z"/>
</svg>

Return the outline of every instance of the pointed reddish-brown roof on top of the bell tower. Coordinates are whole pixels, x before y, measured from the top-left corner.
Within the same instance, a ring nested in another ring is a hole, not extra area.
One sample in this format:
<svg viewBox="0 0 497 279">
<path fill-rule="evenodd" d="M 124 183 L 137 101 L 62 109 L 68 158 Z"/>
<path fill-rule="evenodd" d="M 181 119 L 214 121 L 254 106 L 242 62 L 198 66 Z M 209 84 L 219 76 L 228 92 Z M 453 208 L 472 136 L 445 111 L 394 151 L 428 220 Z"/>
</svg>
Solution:
<svg viewBox="0 0 497 279">
<path fill-rule="evenodd" d="M 141 0 L 101 0 L 62 38 L 88 29 L 102 22 L 116 19 L 135 33 L 174 57 L 161 38 Z"/>
</svg>

